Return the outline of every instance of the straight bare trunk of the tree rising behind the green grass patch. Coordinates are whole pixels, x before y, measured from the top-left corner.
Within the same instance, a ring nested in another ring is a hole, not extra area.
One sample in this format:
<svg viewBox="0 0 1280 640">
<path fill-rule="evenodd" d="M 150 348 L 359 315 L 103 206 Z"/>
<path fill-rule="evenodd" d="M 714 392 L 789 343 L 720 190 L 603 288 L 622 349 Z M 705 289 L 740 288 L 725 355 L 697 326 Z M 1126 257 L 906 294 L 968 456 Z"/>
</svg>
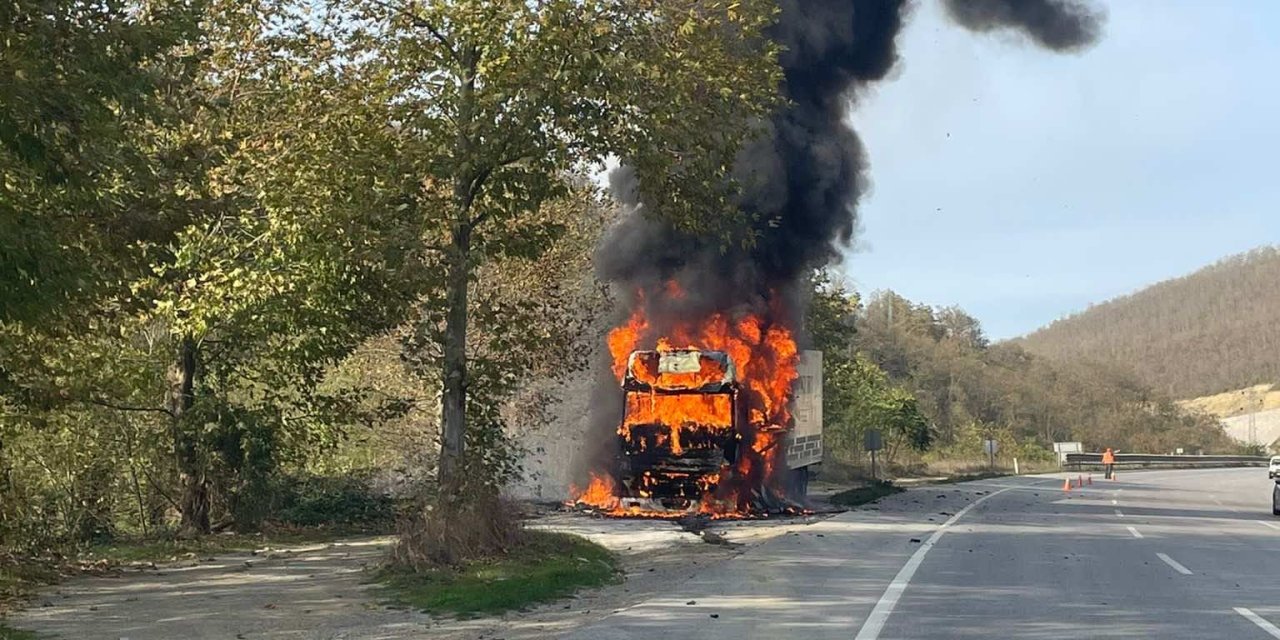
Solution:
<svg viewBox="0 0 1280 640">
<path fill-rule="evenodd" d="M 440 475 L 444 490 L 457 486 L 458 465 L 466 447 L 467 406 L 467 287 L 471 269 L 471 229 L 454 232 L 447 283 L 448 311 L 444 320 L 443 393 L 440 398 Z"/>
</svg>

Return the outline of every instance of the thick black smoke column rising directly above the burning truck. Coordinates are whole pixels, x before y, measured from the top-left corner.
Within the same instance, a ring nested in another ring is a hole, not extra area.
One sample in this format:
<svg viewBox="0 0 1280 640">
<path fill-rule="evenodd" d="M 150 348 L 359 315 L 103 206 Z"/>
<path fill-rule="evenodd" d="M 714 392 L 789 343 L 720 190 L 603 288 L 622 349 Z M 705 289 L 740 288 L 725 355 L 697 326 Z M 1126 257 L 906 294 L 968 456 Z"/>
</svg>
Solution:
<svg viewBox="0 0 1280 640">
<path fill-rule="evenodd" d="M 769 33 L 783 52 L 782 92 L 790 108 L 735 165 L 751 248 L 730 248 L 634 215 L 608 236 L 596 270 L 622 291 L 655 292 L 676 279 L 680 301 L 646 296 L 650 319 L 687 320 L 698 310 L 733 311 L 788 296 L 809 270 L 835 261 L 852 238 L 854 207 L 865 191 L 867 157 L 844 118 L 856 88 L 883 78 L 897 60 L 905 1 L 783 0 Z M 634 202 L 634 177 L 621 169 L 614 195 Z M 675 308 L 654 308 L 675 303 Z"/>
</svg>

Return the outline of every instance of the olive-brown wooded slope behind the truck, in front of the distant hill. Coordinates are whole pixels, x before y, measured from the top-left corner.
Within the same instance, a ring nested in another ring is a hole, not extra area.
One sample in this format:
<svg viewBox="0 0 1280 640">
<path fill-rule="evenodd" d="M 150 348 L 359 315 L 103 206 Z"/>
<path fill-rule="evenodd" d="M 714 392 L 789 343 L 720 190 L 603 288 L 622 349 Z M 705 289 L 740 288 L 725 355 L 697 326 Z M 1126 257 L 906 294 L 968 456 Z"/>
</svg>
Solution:
<svg viewBox="0 0 1280 640">
<path fill-rule="evenodd" d="M 972 449 L 986 435 L 1005 438 L 1006 453 L 1037 460 L 1061 440 L 1152 453 L 1233 447 L 1220 425 L 1184 413 L 1124 372 L 987 344 L 980 325 L 960 310 L 886 292 L 865 306 L 858 328 L 860 347 L 919 399 L 943 448 Z"/>
</svg>

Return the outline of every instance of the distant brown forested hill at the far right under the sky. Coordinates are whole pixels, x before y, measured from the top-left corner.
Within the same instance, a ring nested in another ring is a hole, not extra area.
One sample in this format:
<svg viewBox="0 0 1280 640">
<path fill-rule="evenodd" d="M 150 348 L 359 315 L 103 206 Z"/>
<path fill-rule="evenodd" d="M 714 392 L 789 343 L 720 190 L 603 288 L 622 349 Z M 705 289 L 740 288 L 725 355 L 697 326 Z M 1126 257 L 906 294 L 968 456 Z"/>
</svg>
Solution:
<svg viewBox="0 0 1280 640">
<path fill-rule="evenodd" d="M 1280 247 L 1225 259 L 1059 320 L 1019 342 L 1110 361 L 1174 397 L 1280 381 Z"/>
</svg>

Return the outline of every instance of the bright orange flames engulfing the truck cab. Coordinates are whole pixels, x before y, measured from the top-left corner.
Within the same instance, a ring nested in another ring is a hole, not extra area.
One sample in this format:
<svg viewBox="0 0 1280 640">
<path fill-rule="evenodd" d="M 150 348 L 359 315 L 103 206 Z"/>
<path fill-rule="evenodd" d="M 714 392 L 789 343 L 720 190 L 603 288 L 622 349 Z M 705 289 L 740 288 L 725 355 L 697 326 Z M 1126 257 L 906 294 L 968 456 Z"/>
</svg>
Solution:
<svg viewBox="0 0 1280 640">
<path fill-rule="evenodd" d="M 673 282 L 663 294 L 678 298 L 684 292 Z M 701 358 L 696 372 L 659 371 L 657 358 L 637 358 L 631 365 L 631 375 L 639 383 L 655 390 L 630 390 L 626 393 L 625 415 L 620 416 L 618 436 L 632 453 L 646 453 L 652 448 L 666 448 L 680 457 L 699 451 L 724 438 L 740 442 L 740 452 L 733 465 L 718 472 L 691 477 L 689 474 L 668 472 L 659 479 L 645 471 L 628 481 L 636 495 L 622 495 L 628 489 L 608 477 L 593 474 L 591 484 L 577 495 L 577 503 L 593 506 L 616 516 L 669 517 L 667 511 L 636 507 L 632 498 L 648 499 L 662 481 L 680 481 L 696 486 L 698 495 L 686 495 L 701 513 L 712 517 L 737 517 L 749 515 L 753 492 L 776 479 L 782 465 L 782 438 L 792 424 L 790 412 L 791 384 L 796 379 L 799 349 L 791 330 L 774 321 L 781 317 L 778 307 L 771 307 L 765 317 L 745 314 L 730 317 L 713 314 L 704 319 L 690 319 L 663 334 L 655 329 L 644 312 L 644 300 L 626 324 L 614 328 L 607 338 L 613 374 L 625 381 L 631 355 L 643 349 L 719 351 L 728 355 L 733 365 L 736 390 L 731 393 L 669 393 L 672 389 L 700 389 L 723 380 L 726 371 L 719 361 Z M 735 401 L 736 399 L 736 401 Z M 742 421 L 735 420 L 735 402 L 741 406 Z M 736 431 L 736 433 L 735 433 Z M 684 495 L 684 494 L 682 494 Z"/>
</svg>

